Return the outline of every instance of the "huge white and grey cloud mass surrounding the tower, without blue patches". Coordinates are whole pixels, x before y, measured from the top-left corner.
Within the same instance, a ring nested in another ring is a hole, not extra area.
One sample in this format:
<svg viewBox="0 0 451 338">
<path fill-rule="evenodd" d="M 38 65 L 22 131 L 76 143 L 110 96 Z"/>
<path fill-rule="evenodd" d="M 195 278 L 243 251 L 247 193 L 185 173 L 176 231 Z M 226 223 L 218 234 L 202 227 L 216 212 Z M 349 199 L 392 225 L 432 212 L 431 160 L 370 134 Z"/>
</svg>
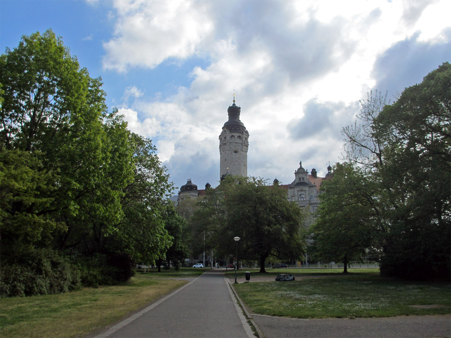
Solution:
<svg viewBox="0 0 451 338">
<path fill-rule="evenodd" d="M 383 75 L 396 77 L 396 63 L 390 74 L 375 73 L 377 60 L 400 41 L 418 43 L 415 34 L 436 43 L 449 26 L 443 14 L 448 6 L 446 1 L 120 1 L 104 66 L 123 72 L 192 55 L 209 60 L 193 67 L 190 85 L 172 96 L 147 97 L 134 86 L 124 92 L 124 101 L 135 100 L 120 112 L 131 130 L 154 139 L 176 185 L 192 177 L 201 187 L 219 178 L 217 137 L 234 89 L 250 134 L 249 175 L 290 183 L 299 160 L 320 175 L 328 161 L 339 160 L 340 131 L 353 123 L 358 100 L 378 79 L 387 79 Z M 410 83 L 397 83 L 401 90 L 403 85 Z"/>
</svg>

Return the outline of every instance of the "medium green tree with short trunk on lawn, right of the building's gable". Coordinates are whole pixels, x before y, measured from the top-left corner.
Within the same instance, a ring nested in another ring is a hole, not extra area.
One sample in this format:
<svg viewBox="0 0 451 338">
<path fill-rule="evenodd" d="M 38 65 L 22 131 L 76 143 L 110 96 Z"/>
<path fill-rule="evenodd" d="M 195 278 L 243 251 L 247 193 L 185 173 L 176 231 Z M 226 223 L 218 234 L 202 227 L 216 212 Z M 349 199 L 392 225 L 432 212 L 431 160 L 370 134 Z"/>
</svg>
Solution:
<svg viewBox="0 0 451 338">
<path fill-rule="evenodd" d="M 325 181 L 320 195 L 318 218 L 309 231 L 313 246 L 321 260 L 348 262 L 376 242 L 378 233 L 385 233 L 381 219 L 377 187 L 362 169 L 337 163 L 334 178 Z"/>
</svg>

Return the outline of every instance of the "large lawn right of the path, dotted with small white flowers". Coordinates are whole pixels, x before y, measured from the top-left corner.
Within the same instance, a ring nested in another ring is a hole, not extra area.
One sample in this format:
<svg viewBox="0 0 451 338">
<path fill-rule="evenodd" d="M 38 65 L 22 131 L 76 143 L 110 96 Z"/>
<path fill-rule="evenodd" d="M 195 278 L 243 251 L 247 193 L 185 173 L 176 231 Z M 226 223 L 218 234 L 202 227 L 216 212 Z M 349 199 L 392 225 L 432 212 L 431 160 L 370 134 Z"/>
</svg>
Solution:
<svg viewBox="0 0 451 338">
<path fill-rule="evenodd" d="M 251 312 L 262 315 L 352 319 L 451 313 L 449 283 L 384 279 L 378 273 L 240 283 L 234 287 Z M 441 306 L 410 306 L 433 304 Z"/>
</svg>

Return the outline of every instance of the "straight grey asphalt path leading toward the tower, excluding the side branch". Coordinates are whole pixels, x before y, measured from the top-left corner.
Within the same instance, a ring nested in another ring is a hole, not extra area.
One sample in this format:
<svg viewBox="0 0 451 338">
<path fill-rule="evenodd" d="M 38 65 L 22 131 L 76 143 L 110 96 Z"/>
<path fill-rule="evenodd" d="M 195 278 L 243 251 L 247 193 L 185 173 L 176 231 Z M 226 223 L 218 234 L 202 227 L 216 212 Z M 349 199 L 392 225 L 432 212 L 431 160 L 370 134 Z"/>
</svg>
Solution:
<svg viewBox="0 0 451 338">
<path fill-rule="evenodd" d="M 221 269 L 207 271 L 101 337 L 254 337 Z"/>
</svg>

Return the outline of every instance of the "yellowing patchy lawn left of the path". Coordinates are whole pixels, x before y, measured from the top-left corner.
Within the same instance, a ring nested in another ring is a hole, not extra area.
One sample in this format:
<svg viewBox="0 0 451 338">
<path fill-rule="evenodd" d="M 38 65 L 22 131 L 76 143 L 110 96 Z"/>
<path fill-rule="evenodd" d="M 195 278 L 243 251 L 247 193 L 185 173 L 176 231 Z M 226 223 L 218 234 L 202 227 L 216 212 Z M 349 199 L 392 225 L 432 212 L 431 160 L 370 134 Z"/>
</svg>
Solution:
<svg viewBox="0 0 451 338">
<path fill-rule="evenodd" d="M 2 298 L 0 337 L 80 337 L 187 283 L 133 277 L 108 287 L 56 295 Z"/>
</svg>

